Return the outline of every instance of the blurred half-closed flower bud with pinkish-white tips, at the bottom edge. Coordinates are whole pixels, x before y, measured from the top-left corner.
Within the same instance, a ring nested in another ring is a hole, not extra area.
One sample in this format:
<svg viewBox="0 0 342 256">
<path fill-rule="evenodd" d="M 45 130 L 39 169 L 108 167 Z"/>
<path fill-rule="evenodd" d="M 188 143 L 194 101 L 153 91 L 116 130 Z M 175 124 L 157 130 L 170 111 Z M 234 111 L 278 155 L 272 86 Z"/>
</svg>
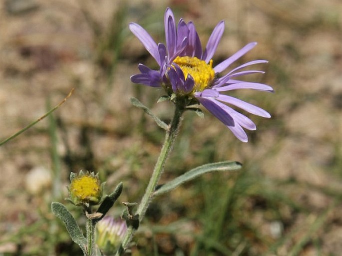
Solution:
<svg viewBox="0 0 342 256">
<path fill-rule="evenodd" d="M 96 244 L 105 254 L 114 253 L 127 231 L 123 220 L 104 217 L 96 225 Z"/>
</svg>

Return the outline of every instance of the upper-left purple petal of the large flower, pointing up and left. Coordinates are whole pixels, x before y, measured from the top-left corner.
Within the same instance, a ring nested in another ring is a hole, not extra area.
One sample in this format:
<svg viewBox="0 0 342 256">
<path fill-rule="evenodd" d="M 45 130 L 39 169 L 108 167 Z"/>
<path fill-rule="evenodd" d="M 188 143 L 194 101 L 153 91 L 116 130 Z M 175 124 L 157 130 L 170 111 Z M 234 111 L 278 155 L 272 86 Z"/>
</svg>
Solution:
<svg viewBox="0 0 342 256">
<path fill-rule="evenodd" d="M 152 39 L 150 34 L 136 23 L 130 23 L 129 29 L 132 33 L 140 40 L 140 42 L 145 46 L 146 50 L 152 55 L 152 57 L 160 65 L 160 57 L 158 52 L 158 46 L 156 42 Z"/>
</svg>

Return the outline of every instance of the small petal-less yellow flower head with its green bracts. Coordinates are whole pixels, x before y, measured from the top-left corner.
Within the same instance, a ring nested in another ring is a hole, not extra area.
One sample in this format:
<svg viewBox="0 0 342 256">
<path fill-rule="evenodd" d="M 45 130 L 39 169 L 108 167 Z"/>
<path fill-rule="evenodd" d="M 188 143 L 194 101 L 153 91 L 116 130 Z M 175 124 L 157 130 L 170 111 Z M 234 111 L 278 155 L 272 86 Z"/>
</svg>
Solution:
<svg viewBox="0 0 342 256">
<path fill-rule="evenodd" d="M 70 175 L 71 184 L 69 189 L 70 201 L 76 205 L 96 205 L 102 198 L 102 185 L 98 174 L 83 173 Z"/>
</svg>

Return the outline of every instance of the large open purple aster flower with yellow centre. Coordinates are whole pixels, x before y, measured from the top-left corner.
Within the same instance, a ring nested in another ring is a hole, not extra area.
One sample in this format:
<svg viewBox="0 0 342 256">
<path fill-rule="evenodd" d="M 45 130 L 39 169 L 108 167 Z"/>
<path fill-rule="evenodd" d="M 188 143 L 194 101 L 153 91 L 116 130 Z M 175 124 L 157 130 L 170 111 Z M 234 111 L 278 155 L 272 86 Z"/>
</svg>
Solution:
<svg viewBox="0 0 342 256">
<path fill-rule="evenodd" d="M 261 70 L 243 70 L 245 67 L 267 63 L 267 60 L 253 60 L 244 63 L 222 77 L 217 75 L 226 70 L 234 61 L 250 51 L 257 44 L 251 42 L 238 50 L 229 58 L 213 67 L 212 57 L 216 51 L 224 31 L 224 21 L 220 21 L 209 37 L 206 48 L 202 50 L 201 41 L 195 25 L 186 23 L 182 18 L 176 27 L 175 18 L 170 8 L 164 16 L 166 45 L 156 43 L 149 33 L 136 23 L 129 28 L 157 61 L 159 70 L 139 64 L 140 74 L 131 76 L 133 83 L 141 83 L 152 87 L 163 87 L 169 95 L 196 99 L 209 112 L 224 123 L 241 141 L 247 142 L 247 130 L 256 130 L 256 125 L 247 116 L 234 110 L 229 105 L 241 108 L 254 115 L 270 118 L 271 115 L 260 107 L 223 94 L 236 89 L 254 89 L 272 92 L 271 86 L 236 80 L 237 77 L 265 73 Z M 193 101 L 189 101 L 192 102 Z M 228 104 L 228 105 L 227 105 Z"/>
</svg>

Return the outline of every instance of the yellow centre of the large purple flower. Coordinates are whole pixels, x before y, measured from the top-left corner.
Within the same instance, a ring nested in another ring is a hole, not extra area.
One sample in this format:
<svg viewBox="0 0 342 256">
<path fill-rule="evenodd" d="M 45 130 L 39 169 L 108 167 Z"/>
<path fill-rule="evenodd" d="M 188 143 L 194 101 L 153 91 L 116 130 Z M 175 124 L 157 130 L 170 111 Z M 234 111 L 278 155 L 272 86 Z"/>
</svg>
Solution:
<svg viewBox="0 0 342 256">
<path fill-rule="evenodd" d="M 207 64 L 204 60 L 197 57 L 176 57 L 173 61 L 182 69 L 185 79 L 188 74 L 195 80 L 193 92 L 203 91 L 211 85 L 214 80 L 215 71 L 213 69 L 213 60 Z"/>
</svg>

